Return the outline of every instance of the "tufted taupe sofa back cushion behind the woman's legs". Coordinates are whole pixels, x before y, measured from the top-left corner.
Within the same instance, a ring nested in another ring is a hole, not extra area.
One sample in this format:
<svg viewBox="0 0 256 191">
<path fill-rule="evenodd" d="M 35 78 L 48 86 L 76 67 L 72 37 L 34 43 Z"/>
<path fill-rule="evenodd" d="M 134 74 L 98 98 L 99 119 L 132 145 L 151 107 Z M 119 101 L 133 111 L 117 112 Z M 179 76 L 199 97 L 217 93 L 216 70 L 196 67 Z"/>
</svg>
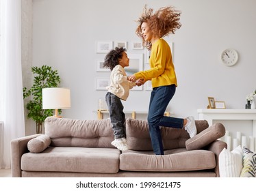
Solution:
<svg viewBox="0 0 256 191">
<path fill-rule="evenodd" d="M 196 120 L 197 133 L 205 130 L 208 126 L 207 121 Z M 161 127 L 161 133 L 164 149 L 185 148 L 185 141 L 190 138 L 188 132 L 184 129 Z M 126 134 L 129 149 L 152 150 L 147 121 L 126 119 Z"/>
</svg>

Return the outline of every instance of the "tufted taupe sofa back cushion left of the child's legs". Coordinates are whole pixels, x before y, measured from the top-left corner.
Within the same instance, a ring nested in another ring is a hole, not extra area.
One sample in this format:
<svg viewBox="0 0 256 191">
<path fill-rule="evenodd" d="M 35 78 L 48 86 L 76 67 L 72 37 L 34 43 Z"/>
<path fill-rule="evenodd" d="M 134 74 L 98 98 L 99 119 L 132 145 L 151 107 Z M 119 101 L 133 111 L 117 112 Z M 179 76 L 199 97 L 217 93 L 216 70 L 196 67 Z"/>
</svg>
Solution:
<svg viewBox="0 0 256 191">
<path fill-rule="evenodd" d="M 51 137 L 51 146 L 114 148 L 114 134 L 110 119 L 79 120 L 47 117 L 45 134 Z"/>
</svg>

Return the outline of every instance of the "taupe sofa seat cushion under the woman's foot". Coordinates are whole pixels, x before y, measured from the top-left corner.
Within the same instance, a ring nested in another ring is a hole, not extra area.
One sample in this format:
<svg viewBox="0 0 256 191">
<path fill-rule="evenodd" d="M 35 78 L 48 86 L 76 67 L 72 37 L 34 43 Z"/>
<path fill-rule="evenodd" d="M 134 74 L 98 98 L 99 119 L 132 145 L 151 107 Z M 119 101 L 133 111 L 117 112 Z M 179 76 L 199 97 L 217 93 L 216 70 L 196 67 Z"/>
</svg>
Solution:
<svg viewBox="0 0 256 191">
<path fill-rule="evenodd" d="M 212 151 L 170 149 L 163 156 L 153 151 L 124 151 L 120 155 L 120 170 L 123 171 L 199 171 L 212 169 L 216 160 Z"/>
</svg>

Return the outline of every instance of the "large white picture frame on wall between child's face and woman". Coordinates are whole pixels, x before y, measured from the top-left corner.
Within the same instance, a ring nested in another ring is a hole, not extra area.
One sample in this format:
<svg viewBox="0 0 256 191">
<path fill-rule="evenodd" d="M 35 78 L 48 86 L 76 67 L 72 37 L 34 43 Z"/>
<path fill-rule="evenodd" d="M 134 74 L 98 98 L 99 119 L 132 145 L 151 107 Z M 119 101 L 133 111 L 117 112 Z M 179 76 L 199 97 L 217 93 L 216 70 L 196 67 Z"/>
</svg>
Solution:
<svg viewBox="0 0 256 191">
<path fill-rule="evenodd" d="M 140 72 L 143 70 L 143 54 L 133 54 L 127 53 L 129 57 L 129 66 L 125 67 L 125 73 L 127 76 L 131 76 L 136 72 Z M 143 86 L 133 87 L 131 90 L 142 90 Z"/>
</svg>

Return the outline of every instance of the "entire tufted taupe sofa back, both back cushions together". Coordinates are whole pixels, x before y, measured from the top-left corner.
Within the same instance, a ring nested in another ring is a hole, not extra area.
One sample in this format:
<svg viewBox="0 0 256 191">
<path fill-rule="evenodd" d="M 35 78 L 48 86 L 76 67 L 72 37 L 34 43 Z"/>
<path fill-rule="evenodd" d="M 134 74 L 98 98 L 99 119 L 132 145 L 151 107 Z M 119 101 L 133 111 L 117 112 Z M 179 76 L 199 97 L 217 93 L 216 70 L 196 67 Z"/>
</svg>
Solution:
<svg viewBox="0 0 256 191">
<path fill-rule="evenodd" d="M 205 120 L 196 120 L 197 133 L 208 128 Z M 51 146 L 114 148 L 114 134 L 110 119 L 79 120 L 47 117 L 45 134 L 51 137 Z M 188 132 L 175 128 L 161 128 L 164 149 L 185 148 Z M 127 143 L 131 150 L 152 150 L 147 121 L 126 119 Z"/>
</svg>

